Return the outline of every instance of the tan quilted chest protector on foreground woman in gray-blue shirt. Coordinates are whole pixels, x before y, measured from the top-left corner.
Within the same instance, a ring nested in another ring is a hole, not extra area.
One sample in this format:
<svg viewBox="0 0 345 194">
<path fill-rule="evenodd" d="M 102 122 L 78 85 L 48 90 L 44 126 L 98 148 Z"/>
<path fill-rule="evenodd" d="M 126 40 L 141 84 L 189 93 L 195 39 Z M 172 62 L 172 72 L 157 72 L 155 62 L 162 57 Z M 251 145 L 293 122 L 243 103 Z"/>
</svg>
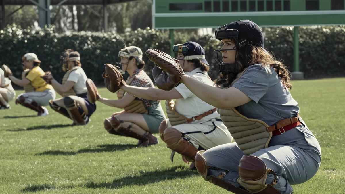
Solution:
<svg viewBox="0 0 345 194">
<path fill-rule="evenodd" d="M 236 76 L 231 86 L 239 80 L 245 71 L 246 69 Z M 220 88 L 226 89 L 226 87 Z M 272 138 L 272 132 L 266 131 L 269 126 L 265 122 L 259 119 L 247 118 L 240 114 L 235 108 L 217 108 L 217 111 L 224 125 L 228 128 L 231 136 L 234 137 L 235 142 L 244 154 L 250 155 L 260 149 L 268 147 L 268 143 Z"/>
</svg>

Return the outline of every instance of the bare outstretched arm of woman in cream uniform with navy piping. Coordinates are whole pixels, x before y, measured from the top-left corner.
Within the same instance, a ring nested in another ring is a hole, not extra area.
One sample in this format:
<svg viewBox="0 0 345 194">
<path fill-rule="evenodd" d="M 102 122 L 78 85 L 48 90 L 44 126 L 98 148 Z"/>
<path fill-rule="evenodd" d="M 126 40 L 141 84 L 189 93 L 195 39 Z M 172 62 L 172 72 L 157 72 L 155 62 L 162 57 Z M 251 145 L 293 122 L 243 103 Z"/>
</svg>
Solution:
<svg viewBox="0 0 345 194">
<path fill-rule="evenodd" d="M 166 91 L 158 88 L 143 88 L 125 85 L 122 86 L 121 89 L 138 96 L 139 98 L 144 98 L 147 100 L 170 100 L 183 98 L 183 96 L 175 88 Z"/>
</svg>

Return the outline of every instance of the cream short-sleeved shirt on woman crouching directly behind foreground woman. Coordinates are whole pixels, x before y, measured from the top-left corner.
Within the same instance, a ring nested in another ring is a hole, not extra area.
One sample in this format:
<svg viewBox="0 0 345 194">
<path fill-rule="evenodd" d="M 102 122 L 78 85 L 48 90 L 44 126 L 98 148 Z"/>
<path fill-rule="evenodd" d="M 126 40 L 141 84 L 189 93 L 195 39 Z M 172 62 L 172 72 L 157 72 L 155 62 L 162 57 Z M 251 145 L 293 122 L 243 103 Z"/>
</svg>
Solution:
<svg viewBox="0 0 345 194">
<path fill-rule="evenodd" d="M 200 67 L 194 69 L 191 72 L 185 72 L 186 75 L 201 81 L 204 84 L 213 86 L 213 81 L 208 78 L 206 71 L 201 71 Z M 195 96 L 184 84 L 180 84 L 175 89 L 183 96 L 183 98 L 176 99 L 175 110 L 188 118 L 201 115 L 208 110 L 214 109 L 215 107 L 205 103 L 203 100 Z M 215 111 L 206 117 L 196 120 L 192 123 L 204 123 L 210 119 L 219 118 L 220 115 Z"/>
</svg>

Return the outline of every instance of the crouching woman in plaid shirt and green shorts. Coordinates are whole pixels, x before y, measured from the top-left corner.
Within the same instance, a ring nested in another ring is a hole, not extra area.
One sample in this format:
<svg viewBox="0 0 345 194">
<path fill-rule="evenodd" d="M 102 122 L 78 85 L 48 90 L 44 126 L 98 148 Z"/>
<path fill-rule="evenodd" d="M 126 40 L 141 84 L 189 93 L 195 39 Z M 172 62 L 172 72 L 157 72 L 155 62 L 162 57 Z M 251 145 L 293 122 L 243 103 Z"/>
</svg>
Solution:
<svg viewBox="0 0 345 194">
<path fill-rule="evenodd" d="M 121 49 L 118 53 L 122 68 L 129 73 L 127 84 L 140 88 L 153 88 L 153 82 L 143 70 L 145 62 L 142 51 L 135 46 Z M 110 65 L 110 64 L 108 64 Z M 133 94 L 117 92 L 118 100 L 100 97 L 98 101 L 108 106 L 124 108 L 105 119 L 104 127 L 110 134 L 125 135 L 138 139 L 140 146 L 157 144 L 158 139 L 152 133 L 158 133 L 158 127 L 165 119 L 164 111 L 158 100 L 147 100 Z"/>
</svg>

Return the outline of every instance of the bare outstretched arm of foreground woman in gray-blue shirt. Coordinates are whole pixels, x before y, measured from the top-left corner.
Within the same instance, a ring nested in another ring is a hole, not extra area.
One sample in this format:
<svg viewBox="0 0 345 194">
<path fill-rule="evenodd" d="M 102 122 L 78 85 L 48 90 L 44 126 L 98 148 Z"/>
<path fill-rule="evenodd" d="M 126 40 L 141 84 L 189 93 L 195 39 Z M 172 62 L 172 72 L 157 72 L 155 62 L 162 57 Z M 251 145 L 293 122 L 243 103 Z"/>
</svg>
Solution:
<svg viewBox="0 0 345 194">
<path fill-rule="evenodd" d="M 182 75 L 181 82 L 201 100 L 217 108 L 234 108 L 252 100 L 237 88 L 216 88 L 188 75 Z"/>
</svg>

